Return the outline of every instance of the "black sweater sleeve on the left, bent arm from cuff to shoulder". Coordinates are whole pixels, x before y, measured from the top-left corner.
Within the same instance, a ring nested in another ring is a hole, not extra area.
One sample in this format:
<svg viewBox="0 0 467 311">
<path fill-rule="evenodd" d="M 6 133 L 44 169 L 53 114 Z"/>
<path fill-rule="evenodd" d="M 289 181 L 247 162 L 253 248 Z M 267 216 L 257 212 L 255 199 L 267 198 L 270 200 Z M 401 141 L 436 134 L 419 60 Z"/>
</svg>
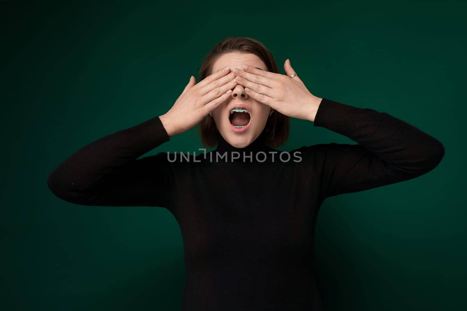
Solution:
<svg viewBox="0 0 467 311">
<path fill-rule="evenodd" d="M 80 205 L 169 207 L 167 154 L 137 159 L 168 140 L 154 117 L 85 145 L 49 174 L 47 185 L 57 197 Z"/>
</svg>

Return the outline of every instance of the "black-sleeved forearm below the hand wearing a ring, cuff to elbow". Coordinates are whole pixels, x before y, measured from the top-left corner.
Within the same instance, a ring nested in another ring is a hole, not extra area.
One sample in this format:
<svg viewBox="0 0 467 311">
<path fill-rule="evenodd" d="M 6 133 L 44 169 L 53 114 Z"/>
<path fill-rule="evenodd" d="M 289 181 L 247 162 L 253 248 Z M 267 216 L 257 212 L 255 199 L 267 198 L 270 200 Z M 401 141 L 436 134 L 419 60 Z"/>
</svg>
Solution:
<svg viewBox="0 0 467 311">
<path fill-rule="evenodd" d="M 401 119 L 328 99 L 320 104 L 314 126 L 354 140 L 381 159 L 386 169 L 424 173 L 437 166 L 444 155 L 439 140 Z"/>
</svg>

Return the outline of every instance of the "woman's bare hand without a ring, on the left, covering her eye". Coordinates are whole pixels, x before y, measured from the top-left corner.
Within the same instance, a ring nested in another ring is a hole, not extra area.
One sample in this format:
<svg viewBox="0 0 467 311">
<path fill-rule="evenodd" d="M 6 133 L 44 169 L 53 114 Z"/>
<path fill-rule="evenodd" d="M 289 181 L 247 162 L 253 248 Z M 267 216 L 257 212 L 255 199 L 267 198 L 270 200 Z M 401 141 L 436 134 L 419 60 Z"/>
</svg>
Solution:
<svg viewBox="0 0 467 311">
<path fill-rule="evenodd" d="M 205 77 L 198 84 L 191 76 L 173 107 L 159 116 L 169 137 L 191 129 L 230 96 L 238 84 L 237 81 L 232 82 L 236 75 L 233 72 L 228 74 L 228 67 L 223 69 Z"/>
</svg>

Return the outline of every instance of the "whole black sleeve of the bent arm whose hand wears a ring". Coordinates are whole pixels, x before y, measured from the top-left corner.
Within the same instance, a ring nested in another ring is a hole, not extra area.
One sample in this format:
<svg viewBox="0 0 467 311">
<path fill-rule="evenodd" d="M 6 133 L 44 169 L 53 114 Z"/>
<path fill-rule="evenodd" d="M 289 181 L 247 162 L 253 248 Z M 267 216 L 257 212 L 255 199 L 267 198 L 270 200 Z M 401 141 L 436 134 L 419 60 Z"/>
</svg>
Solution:
<svg viewBox="0 0 467 311">
<path fill-rule="evenodd" d="M 439 140 L 396 117 L 325 98 L 313 126 L 358 143 L 304 147 L 312 149 L 321 200 L 413 179 L 438 166 L 445 153 Z"/>
</svg>

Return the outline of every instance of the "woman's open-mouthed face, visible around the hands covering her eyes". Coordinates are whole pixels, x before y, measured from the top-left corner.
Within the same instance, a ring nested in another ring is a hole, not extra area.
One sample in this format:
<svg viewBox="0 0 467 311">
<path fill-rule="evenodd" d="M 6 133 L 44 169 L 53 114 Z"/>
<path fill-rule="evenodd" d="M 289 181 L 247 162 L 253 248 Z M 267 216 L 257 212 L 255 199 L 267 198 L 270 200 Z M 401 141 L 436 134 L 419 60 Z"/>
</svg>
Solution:
<svg viewBox="0 0 467 311">
<path fill-rule="evenodd" d="M 213 64 L 212 72 L 226 66 L 232 72 L 234 68 L 242 69 L 243 64 L 267 70 L 264 62 L 255 54 L 234 52 L 220 56 Z M 241 106 L 243 109 L 231 114 L 233 108 Z M 249 113 L 242 112 L 245 110 Z M 273 109 L 268 105 L 249 97 L 245 88 L 237 84 L 232 89 L 230 97 L 212 111 L 212 117 L 226 142 L 234 147 L 244 148 L 260 136 L 272 111 Z"/>
</svg>

